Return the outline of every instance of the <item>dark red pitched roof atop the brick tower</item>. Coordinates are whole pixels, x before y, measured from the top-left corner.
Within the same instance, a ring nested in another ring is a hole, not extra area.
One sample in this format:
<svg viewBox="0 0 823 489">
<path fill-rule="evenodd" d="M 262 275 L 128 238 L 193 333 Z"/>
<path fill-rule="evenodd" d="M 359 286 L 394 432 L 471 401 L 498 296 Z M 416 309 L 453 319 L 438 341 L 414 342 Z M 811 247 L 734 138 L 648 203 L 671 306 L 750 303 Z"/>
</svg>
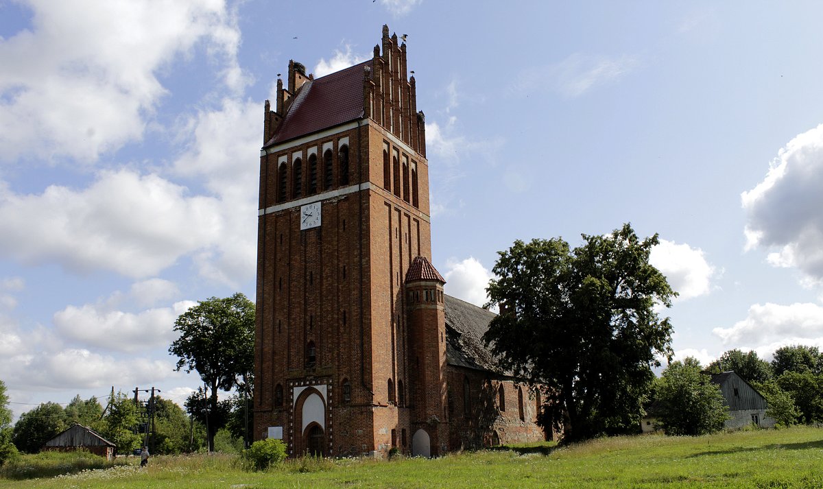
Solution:
<svg viewBox="0 0 823 489">
<path fill-rule="evenodd" d="M 371 68 L 371 62 L 370 59 L 317 80 L 306 81 L 266 146 L 363 117 L 364 68 Z"/>
</svg>

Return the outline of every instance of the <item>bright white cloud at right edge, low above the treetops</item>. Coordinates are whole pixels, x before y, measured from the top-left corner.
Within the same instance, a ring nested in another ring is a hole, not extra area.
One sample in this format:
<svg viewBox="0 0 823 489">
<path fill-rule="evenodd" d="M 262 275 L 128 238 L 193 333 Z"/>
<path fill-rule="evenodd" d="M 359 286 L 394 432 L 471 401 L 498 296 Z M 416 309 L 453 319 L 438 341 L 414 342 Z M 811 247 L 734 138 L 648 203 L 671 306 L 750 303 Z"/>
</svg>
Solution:
<svg viewBox="0 0 823 489">
<path fill-rule="evenodd" d="M 746 319 L 712 333 L 730 347 L 747 347 L 758 353 L 775 344 L 823 342 L 823 307 L 812 303 L 752 305 Z"/>
</svg>

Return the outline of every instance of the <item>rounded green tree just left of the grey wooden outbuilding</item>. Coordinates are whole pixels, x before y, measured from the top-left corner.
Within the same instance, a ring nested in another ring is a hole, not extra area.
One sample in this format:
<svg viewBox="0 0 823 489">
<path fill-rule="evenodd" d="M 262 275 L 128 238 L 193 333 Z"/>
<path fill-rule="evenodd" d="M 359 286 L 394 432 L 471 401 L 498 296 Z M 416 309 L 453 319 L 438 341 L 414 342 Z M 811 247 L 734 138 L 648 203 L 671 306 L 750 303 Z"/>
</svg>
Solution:
<svg viewBox="0 0 823 489">
<path fill-rule="evenodd" d="M 701 370 L 700 362 L 688 356 L 670 363 L 657 380 L 658 426 L 667 435 L 704 435 L 720 430 L 728 419 L 720 386 Z"/>
</svg>

